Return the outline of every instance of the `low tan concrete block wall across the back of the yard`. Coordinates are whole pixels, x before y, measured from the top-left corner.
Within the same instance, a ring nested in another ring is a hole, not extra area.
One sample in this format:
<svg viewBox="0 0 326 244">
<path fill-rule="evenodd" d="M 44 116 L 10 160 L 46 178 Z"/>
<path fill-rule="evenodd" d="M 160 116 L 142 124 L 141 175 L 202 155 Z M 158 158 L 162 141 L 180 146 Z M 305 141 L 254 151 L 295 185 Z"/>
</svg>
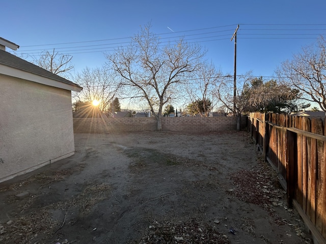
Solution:
<svg viewBox="0 0 326 244">
<path fill-rule="evenodd" d="M 242 119 L 242 127 L 246 119 Z M 156 131 L 156 119 L 146 118 L 74 118 L 74 133 L 113 133 Z M 209 132 L 236 130 L 235 117 L 163 117 L 162 131 Z"/>
</svg>

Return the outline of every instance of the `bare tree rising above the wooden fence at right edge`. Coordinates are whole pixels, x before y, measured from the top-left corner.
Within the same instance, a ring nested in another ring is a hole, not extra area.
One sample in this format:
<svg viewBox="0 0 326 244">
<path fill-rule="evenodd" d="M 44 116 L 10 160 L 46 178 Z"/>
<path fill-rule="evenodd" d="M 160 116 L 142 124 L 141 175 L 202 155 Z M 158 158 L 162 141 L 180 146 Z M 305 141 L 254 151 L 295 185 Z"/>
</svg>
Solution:
<svg viewBox="0 0 326 244">
<path fill-rule="evenodd" d="M 306 95 L 302 99 L 316 102 L 326 112 L 326 41 L 320 37 L 317 45 L 306 46 L 292 60 L 282 63 L 276 73 L 282 82 Z"/>
</svg>

